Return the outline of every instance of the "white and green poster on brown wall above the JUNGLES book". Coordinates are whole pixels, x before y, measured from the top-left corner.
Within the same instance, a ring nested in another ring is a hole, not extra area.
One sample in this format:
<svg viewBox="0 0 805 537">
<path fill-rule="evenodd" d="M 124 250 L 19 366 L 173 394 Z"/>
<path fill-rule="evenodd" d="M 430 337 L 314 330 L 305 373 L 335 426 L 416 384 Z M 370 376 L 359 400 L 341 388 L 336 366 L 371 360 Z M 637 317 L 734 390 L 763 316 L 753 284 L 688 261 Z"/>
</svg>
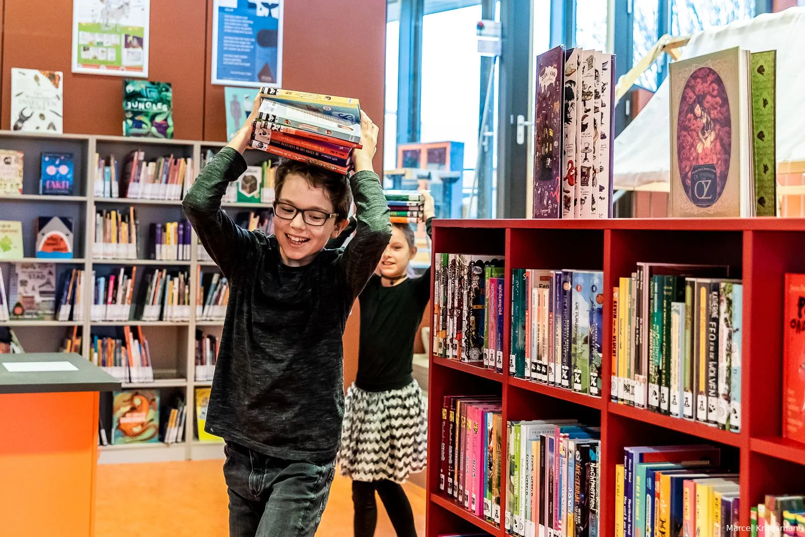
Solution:
<svg viewBox="0 0 805 537">
<path fill-rule="evenodd" d="M 72 72 L 148 76 L 151 0 L 72 0 Z"/>
</svg>

